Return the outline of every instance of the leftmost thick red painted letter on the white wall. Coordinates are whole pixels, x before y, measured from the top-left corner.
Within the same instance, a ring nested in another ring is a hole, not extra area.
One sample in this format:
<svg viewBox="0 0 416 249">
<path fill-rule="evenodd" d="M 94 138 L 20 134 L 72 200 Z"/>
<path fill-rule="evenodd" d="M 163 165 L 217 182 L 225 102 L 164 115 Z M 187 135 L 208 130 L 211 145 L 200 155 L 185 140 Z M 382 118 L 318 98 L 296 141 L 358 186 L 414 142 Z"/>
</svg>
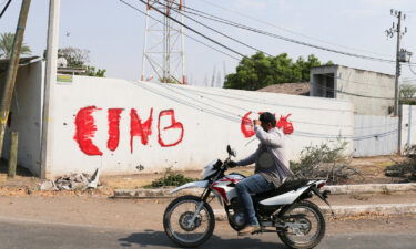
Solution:
<svg viewBox="0 0 416 249">
<path fill-rule="evenodd" d="M 95 106 L 88 106 L 81 108 L 75 117 L 75 135 L 74 139 L 78 142 L 80 149 L 90 156 L 101 156 L 102 152 L 92 143 L 97 127 L 92 112 L 100 110 Z"/>
</svg>

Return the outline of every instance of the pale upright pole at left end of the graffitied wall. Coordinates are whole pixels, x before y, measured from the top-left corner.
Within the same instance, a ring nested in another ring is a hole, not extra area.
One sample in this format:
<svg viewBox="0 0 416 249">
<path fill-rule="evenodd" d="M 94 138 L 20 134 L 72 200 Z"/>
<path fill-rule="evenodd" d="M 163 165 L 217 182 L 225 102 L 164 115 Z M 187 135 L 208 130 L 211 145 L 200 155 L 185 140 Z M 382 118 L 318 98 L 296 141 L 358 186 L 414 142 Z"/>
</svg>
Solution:
<svg viewBox="0 0 416 249">
<path fill-rule="evenodd" d="M 41 139 L 41 177 L 45 178 L 52 162 L 53 142 L 53 92 L 57 82 L 59 10 L 61 0 L 49 1 L 47 70 L 44 81 L 42 139 Z"/>
</svg>

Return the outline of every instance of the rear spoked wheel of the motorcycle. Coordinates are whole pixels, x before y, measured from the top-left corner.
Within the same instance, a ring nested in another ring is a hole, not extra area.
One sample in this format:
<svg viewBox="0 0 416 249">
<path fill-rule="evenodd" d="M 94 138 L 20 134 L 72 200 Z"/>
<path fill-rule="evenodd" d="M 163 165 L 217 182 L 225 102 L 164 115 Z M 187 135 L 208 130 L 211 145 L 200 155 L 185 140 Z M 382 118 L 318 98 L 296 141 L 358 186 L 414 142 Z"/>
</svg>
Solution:
<svg viewBox="0 0 416 249">
<path fill-rule="evenodd" d="M 291 248 L 314 248 L 325 235 L 325 218 L 319 207 L 311 201 L 303 200 L 283 209 L 280 218 L 290 225 L 277 235 Z"/>
</svg>

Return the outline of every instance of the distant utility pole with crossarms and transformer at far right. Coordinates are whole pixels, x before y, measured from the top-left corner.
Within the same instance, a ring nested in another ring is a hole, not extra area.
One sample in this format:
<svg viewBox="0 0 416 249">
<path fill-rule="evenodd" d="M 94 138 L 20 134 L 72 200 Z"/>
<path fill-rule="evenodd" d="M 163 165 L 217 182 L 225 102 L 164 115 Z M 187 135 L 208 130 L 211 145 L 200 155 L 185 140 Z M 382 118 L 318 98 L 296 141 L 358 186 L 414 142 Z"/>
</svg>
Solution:
<svg viewBox="0 0 416 249">
<path fill-rule="evenodd" d="M 395 77 L 395 91 L 394 91 L 394 115 L 398 116 L 398 127 L 397 127 L 397 154 L 402 154 L 402 108 L 399 106 L 399 87 L 398 87 L 398 80 L 400 77 L 400 62 L 404 62 L 403 60 L 403 52 L 404 50 L 400 50 L 400 40 L 402 37 L 405 35 L 407 32 L 407 28 L 405 28 L 405 31 L 402 32 L 402 20 L 406 19 L 406 15 L 403 15 L 402 11 L 397 10 L 390 10 L 390 14 L 394 18 L 397 18 L 397 25 L 393 22 L 393 27 L 388 30 L 386 30 L 387 38 L 393 38 L 396 33 L 397 35 L 397 46 L 396 46 L 396 77 Z"/>
</svg>

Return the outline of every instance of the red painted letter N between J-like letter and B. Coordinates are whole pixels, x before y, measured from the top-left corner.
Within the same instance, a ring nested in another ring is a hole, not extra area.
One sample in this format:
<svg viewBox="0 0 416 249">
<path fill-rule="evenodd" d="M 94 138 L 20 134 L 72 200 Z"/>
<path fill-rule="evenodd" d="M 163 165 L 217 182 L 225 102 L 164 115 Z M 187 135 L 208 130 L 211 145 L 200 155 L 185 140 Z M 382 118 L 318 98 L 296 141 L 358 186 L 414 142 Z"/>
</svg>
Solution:
<svg viewBox="0 0 416 249">
<path fill-rule="evenodd" d="M 133 138 L 140 136 L 143 145 L 149 142 L 149 136 L 152 135 L 153 108 L 150 110 L 149 118 L 142 123 L 138 111 L 134 108 L 130 112 L 130 149 L 133 153 Z"/>
</svg>

